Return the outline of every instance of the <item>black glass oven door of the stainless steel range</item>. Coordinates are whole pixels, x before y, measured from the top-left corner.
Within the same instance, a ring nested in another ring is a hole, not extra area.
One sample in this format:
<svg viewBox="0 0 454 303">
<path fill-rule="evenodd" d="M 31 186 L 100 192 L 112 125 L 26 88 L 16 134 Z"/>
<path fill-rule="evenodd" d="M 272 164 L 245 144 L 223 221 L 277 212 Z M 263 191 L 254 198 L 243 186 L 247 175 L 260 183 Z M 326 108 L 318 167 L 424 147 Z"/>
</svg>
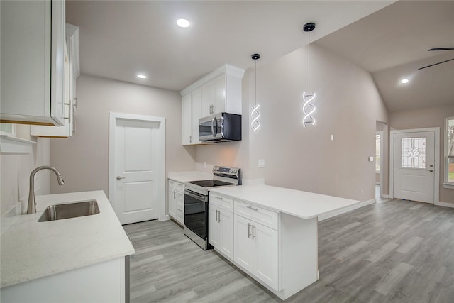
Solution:
<svg viewBox="0 0 454 303">
<path fill-rule="evenodd" d="M 184 226 L 208 239 L 208 196 L 184 189 Z"/>
</svg>

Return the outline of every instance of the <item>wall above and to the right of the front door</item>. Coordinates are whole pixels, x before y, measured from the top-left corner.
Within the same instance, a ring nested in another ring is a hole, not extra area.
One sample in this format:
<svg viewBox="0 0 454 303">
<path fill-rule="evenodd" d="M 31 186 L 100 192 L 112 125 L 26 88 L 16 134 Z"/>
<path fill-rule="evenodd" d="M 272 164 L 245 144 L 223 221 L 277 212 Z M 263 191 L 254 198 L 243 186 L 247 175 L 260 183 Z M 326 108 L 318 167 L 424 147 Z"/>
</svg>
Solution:
<svg viewBox="0 0 454 303">
<path fill-rule="evenodd" d="M 389 114 L 389 126 L 391 129 L 411 128 L 440 128 L 440 162 L 439 171 L 440 202 L 454 203 L 454 189 L 445 189 L 443 182 L 445 178 L 445 117 L 454 116 L 454 104 L 449 106 L 431 107 L 428 109 L 416 109 L 411 111 L 396 111 Z"/>
</svg>

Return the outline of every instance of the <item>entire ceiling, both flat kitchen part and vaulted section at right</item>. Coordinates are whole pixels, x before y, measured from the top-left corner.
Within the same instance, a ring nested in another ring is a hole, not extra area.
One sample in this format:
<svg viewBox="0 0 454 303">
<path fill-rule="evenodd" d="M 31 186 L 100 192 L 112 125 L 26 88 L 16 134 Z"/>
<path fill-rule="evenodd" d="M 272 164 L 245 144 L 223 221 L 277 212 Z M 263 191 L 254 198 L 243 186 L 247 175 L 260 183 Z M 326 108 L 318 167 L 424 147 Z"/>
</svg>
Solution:
<svg viewBox="0 0 454 303">
<path fill-rule="evenodd" d="M 311 41 L 371 72 L 389 111 L 454 104 L 454 1 L 66 1 L 83 74 L 179 91 L 228 63 L 254 66 Z M 187 18 L 192 25 L 179 28 Z M 138 79 L 138 73 L 148 79 Z M 399 84 L 408 77 L 409 84 Z"/>
</svg>

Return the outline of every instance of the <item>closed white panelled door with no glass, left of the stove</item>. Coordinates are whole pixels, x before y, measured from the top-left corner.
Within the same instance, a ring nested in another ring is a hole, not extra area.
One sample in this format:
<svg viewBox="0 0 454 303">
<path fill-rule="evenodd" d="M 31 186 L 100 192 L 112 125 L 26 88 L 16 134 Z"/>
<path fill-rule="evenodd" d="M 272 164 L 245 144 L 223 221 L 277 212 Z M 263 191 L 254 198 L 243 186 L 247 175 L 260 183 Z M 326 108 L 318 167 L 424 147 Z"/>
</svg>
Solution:
<svg viewBox="0 0 454 303">
<path fill-rule="evenodd" d="M 153 117 L 111 113 L 109 200 L 121 224 L 159 219 L 165 201 L 165 126 L 146 118 Z"/>
</svg>

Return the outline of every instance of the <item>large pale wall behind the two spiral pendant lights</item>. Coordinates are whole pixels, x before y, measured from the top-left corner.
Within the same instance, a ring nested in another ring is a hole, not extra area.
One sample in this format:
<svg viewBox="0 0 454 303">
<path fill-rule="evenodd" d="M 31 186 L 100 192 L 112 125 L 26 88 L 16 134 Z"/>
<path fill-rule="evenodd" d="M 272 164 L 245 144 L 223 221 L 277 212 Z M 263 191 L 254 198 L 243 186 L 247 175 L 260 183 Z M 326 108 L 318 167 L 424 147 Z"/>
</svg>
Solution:
<svg viewBox="0 0 454 303">
<path fill-rule="evenodd" d="M 388 117 L 372 77 L 311 45 L 310 79 L 311 91 L 317 93 L 317 123 L 304 128 L 301 93 L 307 89 L 307 70 L 307 48 L 266 66 L 259 62 L 260 131 L 249 126 L 255 77 L 248 73 L 243 81 L 243 127 L 247 128 L 243 136 L 247 133 L 249 141 L 199 146 L 196 167 L 204 170 L 204 162 L 223 162 L 243 167 L 243 177 L 264 177 L 270 185 L 361 201 L 374 199 L 375 162 L 367 162 L 367 158 L 375 155 L 376 121 L 387 123 Z M 258 159 L 265 159 L 265 168 L 258 168 Z"/>
</svg>

